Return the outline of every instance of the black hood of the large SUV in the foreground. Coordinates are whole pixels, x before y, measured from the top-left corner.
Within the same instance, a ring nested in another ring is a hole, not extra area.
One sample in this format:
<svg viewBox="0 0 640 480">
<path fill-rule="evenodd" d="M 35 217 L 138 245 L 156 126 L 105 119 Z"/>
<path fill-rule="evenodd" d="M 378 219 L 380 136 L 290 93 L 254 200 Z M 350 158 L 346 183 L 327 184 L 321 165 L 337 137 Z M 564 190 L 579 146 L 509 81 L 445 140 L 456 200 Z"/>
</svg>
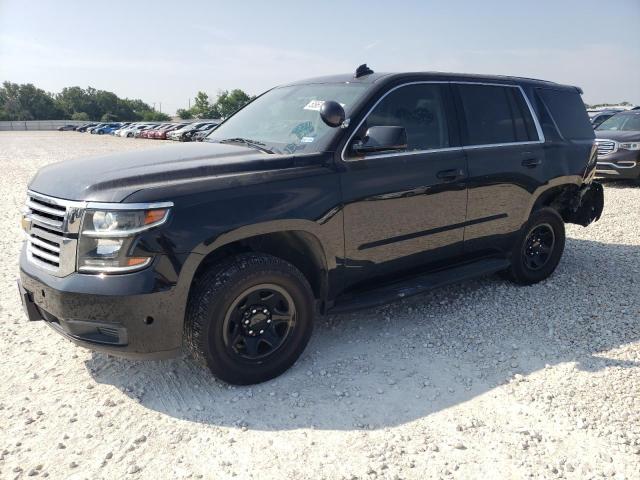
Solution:
<svg viewBox="0 0 640 480">
<path fill-rule="evenodd" d="M 54 163 L 36 173 L 29 189 L 67 200 L 121 202 L 152 186 L 292 166 L 289 155 L 241 145 L 183 143 Z"/>
</svg>

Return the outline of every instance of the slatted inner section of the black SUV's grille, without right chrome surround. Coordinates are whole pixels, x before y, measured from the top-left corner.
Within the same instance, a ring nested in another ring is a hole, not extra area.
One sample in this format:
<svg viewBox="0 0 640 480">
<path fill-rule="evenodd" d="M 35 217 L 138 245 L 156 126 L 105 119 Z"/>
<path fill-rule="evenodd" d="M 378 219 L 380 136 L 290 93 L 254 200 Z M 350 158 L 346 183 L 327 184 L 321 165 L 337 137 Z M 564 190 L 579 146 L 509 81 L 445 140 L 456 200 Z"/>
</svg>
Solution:
<svg viewBox="0 0 640 480">
<path fill-rule="evenodd" d="M 60 249 L 64 240 L 67 207 L 29 195 L 27 217 L 31 220 L 27 250 L 36 263 L 49 269 L 60 268 Z"/>
</svg>

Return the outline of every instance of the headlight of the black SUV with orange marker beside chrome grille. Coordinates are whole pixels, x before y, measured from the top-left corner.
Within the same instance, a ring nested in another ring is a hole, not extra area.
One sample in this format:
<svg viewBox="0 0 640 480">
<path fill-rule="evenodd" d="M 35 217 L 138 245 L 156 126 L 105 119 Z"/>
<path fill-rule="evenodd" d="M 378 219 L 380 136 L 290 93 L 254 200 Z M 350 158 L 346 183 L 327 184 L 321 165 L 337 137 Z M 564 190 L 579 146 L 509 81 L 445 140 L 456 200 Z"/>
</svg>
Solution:
<svg viewBox="0 0 640 480">
<path fill-rule="evenodd" d="M 150 256 L 131 256 L 136 235 L 167 221 L 171 204 L 141 210 L 85 211 L 78 241 L 78 271 L 124 273 L 146 267 Z"/>
</svg>

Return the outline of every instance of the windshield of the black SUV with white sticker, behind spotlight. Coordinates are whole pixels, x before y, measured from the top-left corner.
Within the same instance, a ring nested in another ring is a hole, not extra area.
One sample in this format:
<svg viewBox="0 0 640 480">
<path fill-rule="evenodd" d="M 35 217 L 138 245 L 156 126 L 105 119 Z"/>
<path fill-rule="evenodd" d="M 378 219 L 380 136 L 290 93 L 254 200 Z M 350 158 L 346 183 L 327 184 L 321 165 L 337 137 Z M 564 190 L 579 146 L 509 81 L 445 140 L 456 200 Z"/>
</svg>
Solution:
<svg viewBox="0 0 640 480">
<path fill-rule="evenodd" d="M 347 117 L 368 88 L 364 84 L 291 85 L 268 91 L 251 102 L 207 138 L 208 142 L 248 139 L 276 153 L 314 153 L 326 147 L 332 129 L 320 118 L 320 107 L 334 100 Z"/>
</svg>

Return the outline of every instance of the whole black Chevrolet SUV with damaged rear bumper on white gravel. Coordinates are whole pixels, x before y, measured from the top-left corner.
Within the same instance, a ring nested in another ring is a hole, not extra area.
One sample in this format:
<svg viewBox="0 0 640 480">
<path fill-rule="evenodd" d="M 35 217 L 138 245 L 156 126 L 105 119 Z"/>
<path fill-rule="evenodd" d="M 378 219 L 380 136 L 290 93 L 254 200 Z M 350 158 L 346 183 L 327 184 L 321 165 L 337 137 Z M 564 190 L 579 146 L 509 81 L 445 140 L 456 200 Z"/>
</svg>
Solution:
<svg viewBox="0 0 640 480">
<path fill-rule="evenodd" d="M 576 87 L 376 74 L 274 88 L 203 143 L 72 160 L 29 185 L 31 320 L 94 350 L 183 345 L 221 379 L 289 368 L 316 312 L 554 271 L 602 212 Z"/>
</svg>

